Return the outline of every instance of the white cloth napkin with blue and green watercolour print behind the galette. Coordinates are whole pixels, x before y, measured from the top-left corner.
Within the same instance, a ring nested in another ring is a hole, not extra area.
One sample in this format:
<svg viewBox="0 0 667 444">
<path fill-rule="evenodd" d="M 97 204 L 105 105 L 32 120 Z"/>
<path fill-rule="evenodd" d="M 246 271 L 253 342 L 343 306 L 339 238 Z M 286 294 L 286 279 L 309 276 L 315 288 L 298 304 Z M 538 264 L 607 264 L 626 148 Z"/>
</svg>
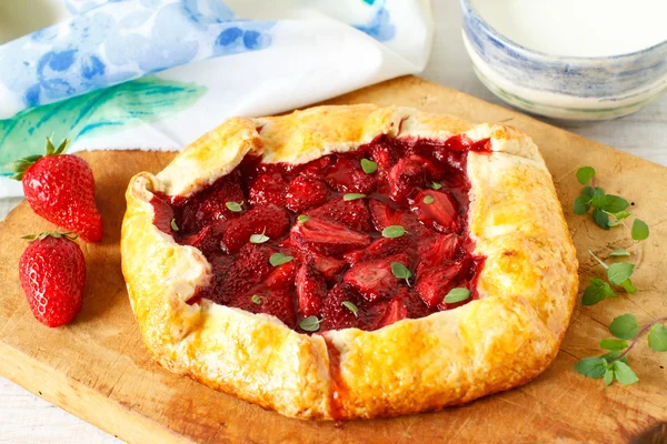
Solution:
<svg viewBox="0 0 667 444">
<path fill-rule="evenodd" d="M 177 150 L 232 115 L 420 72 L 432 37 L 427 0 L 67 3 L 73 16 L 0 46 L 0 165 L 51 134 L 69 152 Z M 19 194 L 0 178 L 0 196 Z"/>
</svg>

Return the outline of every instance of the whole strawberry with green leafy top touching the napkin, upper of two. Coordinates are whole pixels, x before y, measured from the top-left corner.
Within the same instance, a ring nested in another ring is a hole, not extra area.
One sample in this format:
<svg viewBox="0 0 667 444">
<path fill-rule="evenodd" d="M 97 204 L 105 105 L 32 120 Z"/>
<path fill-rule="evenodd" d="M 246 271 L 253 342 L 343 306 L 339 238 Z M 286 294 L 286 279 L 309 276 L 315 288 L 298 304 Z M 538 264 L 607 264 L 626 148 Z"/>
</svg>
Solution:
<svg viewBox="0 0 667 444">
<path fill-rule="evenodd" d="M 62 154 L 47 138 L 47 154 L 31 155 L 13 163 L 12 179 L 23 183 L 30 208 L 46 220 L 63 226 L 88 242 L 102 239 L 102 219 L 94 204 L 94 179 L 88 163 Z"/>
</svg>

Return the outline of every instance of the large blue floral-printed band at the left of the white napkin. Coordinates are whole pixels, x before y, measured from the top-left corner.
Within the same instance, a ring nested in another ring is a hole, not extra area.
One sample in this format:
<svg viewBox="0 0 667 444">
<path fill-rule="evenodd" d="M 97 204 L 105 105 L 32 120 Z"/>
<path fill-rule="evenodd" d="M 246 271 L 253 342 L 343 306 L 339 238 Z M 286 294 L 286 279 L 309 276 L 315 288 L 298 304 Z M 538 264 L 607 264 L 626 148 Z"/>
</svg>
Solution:
<svg viewBox="0 0 667 444">
<path fill-rule="evenodd" d="M 70 20 L 0 47 L 0 118 L 212 57 L 271 44 L 273 21 L 219 1 L 68 1 Z"/>
</svg>

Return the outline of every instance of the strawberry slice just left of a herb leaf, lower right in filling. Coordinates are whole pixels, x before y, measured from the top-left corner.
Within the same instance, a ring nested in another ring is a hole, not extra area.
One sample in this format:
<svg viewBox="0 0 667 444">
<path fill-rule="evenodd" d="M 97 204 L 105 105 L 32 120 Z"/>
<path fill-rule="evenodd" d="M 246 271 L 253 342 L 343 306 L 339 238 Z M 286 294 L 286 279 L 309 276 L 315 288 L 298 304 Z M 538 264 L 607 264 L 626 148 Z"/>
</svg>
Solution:
<svg viewBox="0 0 667 444">
<path fill-rule="evenodd" d="M 342 281 L 349 283 L 368 302 L 385 297 L 399 286 L 399 280 L 391 272 L 391 263 L 400 262 L 409 266 L 407 254 L 361 262 L 345 273 Z"/>
</svg>

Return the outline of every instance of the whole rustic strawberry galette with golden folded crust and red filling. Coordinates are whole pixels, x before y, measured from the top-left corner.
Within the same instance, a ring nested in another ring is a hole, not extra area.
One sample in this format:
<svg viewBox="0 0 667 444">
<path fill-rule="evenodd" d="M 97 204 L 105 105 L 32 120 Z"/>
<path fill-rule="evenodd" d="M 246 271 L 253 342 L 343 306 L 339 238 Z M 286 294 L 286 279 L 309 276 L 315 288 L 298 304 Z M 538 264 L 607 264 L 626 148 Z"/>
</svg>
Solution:
<svg viewBox="0 0 667 444">
<path fill-rule="evenodd" d="M 555 357 L 577 261 L 532 141 L 408 108 L 230 119 L 127 191 L 122 270 L 172 372 L 288 416 L 416 413 Z"/>
</svg>

